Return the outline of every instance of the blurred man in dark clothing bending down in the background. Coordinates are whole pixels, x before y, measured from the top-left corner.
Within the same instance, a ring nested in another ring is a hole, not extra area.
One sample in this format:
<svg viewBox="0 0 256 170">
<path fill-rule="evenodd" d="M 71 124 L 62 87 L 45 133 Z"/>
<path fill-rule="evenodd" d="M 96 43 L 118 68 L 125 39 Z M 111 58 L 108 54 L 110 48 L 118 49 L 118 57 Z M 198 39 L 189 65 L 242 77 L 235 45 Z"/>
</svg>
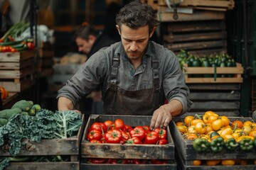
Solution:
<svg viewBox="0 0 256 170">
<path fill-rule="evenodd" d="M 78 51 L 83 52 L 87 57 L 92 56 L 95 52 L 100 50 L 102 47 L 109 47 L 115 40 L 112 40 L 109 35 L 103 35 L 102 32 L 97 32 L 92 26 L 87 23 L 84 26 L 76 30 L 74 35 L 76 45 L 78 45 Z M 95 89 L 91 93 L 92 97 L 92 113 L 102 114 L 103 102 L 102 93 L 100 88 Z M 85 100 L 87 104 L 91 102 L 90 99 Z M 89 109 L 90 110 L 90 109 Z"/>
</svg>

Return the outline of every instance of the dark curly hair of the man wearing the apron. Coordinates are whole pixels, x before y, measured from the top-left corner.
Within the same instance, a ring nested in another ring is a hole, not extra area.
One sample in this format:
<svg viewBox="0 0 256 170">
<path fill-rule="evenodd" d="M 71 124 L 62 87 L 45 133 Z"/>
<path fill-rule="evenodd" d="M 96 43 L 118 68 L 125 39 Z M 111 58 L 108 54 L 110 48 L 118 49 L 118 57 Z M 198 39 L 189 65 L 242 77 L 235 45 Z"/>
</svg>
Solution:
<svg viewBox="0 0 256 170">
<path fill-rule="evenodd" d="M 154 9 L 139 0 L 132 1 L 120 9 L 116 16 L 116 23 L 119 28 L 124 24 L 134 29 L 148 25 L 149 33 L 159 25 Z"/>
</svg>

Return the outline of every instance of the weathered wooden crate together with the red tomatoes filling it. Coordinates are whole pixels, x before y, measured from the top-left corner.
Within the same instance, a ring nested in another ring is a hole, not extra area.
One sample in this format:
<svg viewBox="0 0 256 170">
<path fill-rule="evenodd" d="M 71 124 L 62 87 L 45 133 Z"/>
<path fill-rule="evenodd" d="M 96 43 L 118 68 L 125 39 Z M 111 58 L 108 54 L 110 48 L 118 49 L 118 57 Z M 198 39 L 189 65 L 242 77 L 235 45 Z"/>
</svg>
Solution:
<svg viewBox="0 0 256 170">
<path fill-rule="evenodd" d="M 151 116 L 90 115 L 81 142 L 81 169 L 177 169 L 169 127 L 149 129 Z"/>
</svg>

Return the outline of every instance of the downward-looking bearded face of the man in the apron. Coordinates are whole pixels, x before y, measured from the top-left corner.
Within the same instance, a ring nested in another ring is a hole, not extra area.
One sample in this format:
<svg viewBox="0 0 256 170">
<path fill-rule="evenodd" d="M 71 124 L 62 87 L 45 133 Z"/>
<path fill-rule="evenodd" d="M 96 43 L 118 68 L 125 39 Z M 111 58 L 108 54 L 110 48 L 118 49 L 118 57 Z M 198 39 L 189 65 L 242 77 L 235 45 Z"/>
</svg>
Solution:
<svg viewBox="0 0 256 170">
<path fill-rule="evenodd" d="M 122 45 L 129 60 L 142 60 L 149 38 L 154 31 L 149 34 L 149 26 L 143 26 L 134 30 L 125 25 L 122 25 L 121 29 L 117 26 L 117 30 L 121 35 Z"/>
</svg>

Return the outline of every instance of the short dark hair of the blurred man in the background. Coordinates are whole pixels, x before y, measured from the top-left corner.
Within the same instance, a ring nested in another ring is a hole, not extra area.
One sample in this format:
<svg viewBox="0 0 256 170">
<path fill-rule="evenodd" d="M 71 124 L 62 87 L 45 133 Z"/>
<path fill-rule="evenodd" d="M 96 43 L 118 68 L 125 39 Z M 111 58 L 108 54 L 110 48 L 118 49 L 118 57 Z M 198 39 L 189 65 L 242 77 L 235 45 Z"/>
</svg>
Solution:
<svg viewBox="0 0 256 170">
<path fill-rule="evenodd" d="M 89 35 L 97 36 L 97 31 L 95 30 L 95 28 L 90 25 L 81 26 L 80 28 L 78 28 L 78 30 L 75 31 L 75 34 L 73 35 L 73 40 L 78 37 L 82 38 L 83 40 L 88 40 Z"/>
</svg>

